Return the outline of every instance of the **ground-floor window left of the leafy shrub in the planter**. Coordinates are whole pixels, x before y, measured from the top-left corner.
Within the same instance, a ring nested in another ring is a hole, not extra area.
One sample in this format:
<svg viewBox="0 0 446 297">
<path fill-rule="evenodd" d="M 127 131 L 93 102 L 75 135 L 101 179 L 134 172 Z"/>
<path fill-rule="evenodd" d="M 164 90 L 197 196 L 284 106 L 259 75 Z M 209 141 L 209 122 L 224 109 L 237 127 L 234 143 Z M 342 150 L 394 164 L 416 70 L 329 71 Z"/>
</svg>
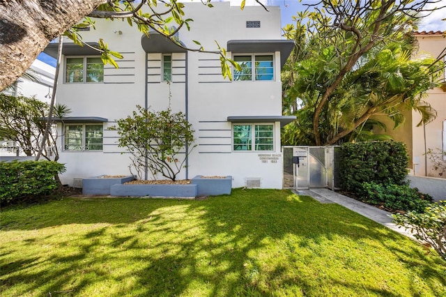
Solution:
<svg viewBox="0 0 446 297">
<path fill-rule="evenodd" d="M 66 151 L 102 151 L 102 125 L 66 125 Z"/>
</svg>

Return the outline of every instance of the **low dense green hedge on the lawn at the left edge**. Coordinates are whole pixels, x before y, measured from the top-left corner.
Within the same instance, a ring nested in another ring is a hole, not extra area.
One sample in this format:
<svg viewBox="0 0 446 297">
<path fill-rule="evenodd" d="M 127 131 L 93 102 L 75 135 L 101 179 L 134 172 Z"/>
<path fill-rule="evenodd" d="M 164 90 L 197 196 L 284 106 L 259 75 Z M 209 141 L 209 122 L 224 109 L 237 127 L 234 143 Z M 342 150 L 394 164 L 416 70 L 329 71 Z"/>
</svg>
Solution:
<svg viewBox="0 0 446 297">
<path fill-rule="evenodd" d="M 0 162 L 0 201 L 10 203 L 51 194 L 65 165 L 53 161 Z"/>
</svg>

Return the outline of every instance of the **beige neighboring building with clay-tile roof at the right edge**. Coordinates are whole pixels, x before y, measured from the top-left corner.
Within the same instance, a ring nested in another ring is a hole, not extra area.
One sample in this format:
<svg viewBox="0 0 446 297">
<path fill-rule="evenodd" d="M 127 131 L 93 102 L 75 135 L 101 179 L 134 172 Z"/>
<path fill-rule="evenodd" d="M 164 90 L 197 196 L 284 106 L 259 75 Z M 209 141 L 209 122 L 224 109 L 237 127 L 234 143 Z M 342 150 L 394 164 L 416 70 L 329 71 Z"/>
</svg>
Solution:
<svg viewBox="0 0 446 297">
<path fill-rule="evenodd" d="M 417 38 L 418 49 L 414 56 L 422 56 L 430 54 L 437 58 L 446 49 L 446 38 L 441 31 L 422 31 L 415 32 Z M 445 82 L 445 73 L 442 74 L 441 80 Z M 420 123 L 421 115 L 416 111 L 406 111 L 405 123 L 401 124 L 396 130 L 387 130 L 387 134 L 391 135 L 396 141 L 406 143 L 410 156 L 409 168 L 411 174 L 415 176 L 433 176 L 440 177 L 438 172 L 433 168 L 431 161 L 426 156 L 429 148 L 439 148 L 446 151 L 446 88 L 431 89 L 428 96 L 424 99 L 433 109 L 437 111 L 437 117 L 427 125 L 417 127 Z M 392 127 L 392 123 L 387 121 L 388 127 Z M 446 162 L 446 156 L 444 156 Z M 443 176 L 445 177 L 445 176 Z"/>
</svg>

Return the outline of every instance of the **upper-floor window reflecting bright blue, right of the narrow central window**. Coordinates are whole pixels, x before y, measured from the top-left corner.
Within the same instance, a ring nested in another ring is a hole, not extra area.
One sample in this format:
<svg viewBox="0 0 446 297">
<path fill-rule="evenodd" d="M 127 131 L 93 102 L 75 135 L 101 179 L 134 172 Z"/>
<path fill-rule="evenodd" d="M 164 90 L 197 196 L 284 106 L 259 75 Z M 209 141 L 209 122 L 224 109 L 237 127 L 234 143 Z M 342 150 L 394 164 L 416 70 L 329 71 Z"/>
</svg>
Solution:
<svg viewBox="0 0 446 297">
<path fill-rule="evenodd" d="M 274 80 L 272 54 L 234 56 L 233 60 L 242 68 L 240 71 L 234 69 L 234 80 L 252 80 L 252 73 L 254 73 L 254 80 Z"/>
</svg>

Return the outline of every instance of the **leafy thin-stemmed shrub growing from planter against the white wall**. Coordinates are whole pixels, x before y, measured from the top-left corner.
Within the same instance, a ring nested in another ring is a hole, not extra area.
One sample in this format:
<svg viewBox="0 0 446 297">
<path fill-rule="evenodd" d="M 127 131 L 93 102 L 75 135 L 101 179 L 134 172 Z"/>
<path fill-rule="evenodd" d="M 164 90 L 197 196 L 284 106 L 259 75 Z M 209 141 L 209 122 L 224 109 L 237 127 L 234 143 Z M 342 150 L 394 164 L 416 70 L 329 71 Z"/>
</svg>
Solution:
<svg viewBox="0 0 446 297">
<path fill-rule="evenodd" d="M 194 130 L 183 112 L 172 112 L 169 107 L 160 112 L 151 112 L 137 106 L 132 116 L 118 120 L 120 147 L 132 154 L 132 165 L 141 178 L 147 166 L 153 178 L 160 174 L 175 181 L 185 167 L 185 160 L 194 148 Z"/>
</svg>

